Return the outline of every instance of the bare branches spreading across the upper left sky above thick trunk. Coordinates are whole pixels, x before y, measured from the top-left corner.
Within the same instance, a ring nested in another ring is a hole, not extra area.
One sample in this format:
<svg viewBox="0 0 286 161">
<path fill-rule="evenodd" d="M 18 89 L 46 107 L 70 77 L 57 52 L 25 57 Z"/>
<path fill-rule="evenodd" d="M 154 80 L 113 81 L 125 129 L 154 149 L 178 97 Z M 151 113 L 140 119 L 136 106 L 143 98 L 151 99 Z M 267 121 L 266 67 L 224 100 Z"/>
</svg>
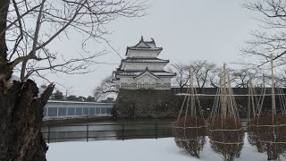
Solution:
<svg viewBox="0 0 286 161">
<path fill-rule="evenodd" d="M 8 10 L 10 1 L 2 2 L 1 6 Z M 11 0 L 11 5 L 9 13 L 0 15 L 0 67 L 5 64 L 2 69 L 7 71 L 1 72 L 0 79 L 9 78 L 8 73 L 14 70 L 21 72 L 22 81 L 45 70 L 69 74 L 93 72 L 89 67 L 100 64 L 98 56 L 107 52 L 87 55 L 88 40 L 101 39 L 109 45 L 105 39 L 110 33 L 106 24 L 118 17 L 143 16 L 147 9 L 146 2 L 138 0 Z M 70 30 L 83 36 L 79 44 L 83 53 L 67 58 L 48 50 L 55 38 L 68 38 Z"/>
</svg>

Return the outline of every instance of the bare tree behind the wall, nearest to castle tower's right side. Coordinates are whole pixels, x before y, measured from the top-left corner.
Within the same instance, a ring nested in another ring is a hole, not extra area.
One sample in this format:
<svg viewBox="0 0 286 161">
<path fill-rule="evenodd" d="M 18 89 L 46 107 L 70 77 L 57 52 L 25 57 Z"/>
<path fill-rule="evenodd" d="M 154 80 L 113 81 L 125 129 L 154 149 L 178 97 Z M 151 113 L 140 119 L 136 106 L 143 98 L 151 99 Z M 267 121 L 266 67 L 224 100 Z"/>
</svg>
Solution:
<svg viewBox="0 0 286 161">
<path fill-rule="evenodd" d="M 182 89 L 187 86 L 189 82 L 189 67 L 186 64 L 172 64 L 168 71 L 176 73 L 174 82 L 180 87 L 180 92 L 182 93 Z"/>
</svg>

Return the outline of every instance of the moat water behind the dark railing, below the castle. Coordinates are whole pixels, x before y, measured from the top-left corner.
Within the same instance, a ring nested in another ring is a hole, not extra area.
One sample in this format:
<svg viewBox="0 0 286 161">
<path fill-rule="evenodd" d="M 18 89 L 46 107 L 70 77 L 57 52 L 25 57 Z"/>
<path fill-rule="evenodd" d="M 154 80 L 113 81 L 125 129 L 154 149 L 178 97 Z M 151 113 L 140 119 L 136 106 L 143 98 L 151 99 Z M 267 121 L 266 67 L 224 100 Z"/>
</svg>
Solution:
<svg viewBox="0 0 286 161">
<path fill-rule="evenodd" d="M 154 139 L 172 137 L 172 121 L 164 119 L 71 123 L 43 127 L 42 132 L 46 142 Z M 242 124 L 246 130 L 246 120 L 243 120 Z"/>
</svg>

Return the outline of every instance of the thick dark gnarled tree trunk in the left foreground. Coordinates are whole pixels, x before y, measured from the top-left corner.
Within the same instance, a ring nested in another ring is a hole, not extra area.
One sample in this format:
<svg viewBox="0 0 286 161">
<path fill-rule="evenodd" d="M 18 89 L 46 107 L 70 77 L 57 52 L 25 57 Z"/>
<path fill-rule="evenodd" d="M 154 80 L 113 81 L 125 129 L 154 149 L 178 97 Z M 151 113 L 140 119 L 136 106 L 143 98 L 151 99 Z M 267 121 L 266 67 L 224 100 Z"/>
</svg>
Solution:
<svg viewBox="0 0 286 161">
<path fill-rule="evenodd" d="M 46 142 L 40 128 L 54 85 L 38 97 L 34 81 L 0 80 L 0 160 L 44 161 Z"/>
</svg>

